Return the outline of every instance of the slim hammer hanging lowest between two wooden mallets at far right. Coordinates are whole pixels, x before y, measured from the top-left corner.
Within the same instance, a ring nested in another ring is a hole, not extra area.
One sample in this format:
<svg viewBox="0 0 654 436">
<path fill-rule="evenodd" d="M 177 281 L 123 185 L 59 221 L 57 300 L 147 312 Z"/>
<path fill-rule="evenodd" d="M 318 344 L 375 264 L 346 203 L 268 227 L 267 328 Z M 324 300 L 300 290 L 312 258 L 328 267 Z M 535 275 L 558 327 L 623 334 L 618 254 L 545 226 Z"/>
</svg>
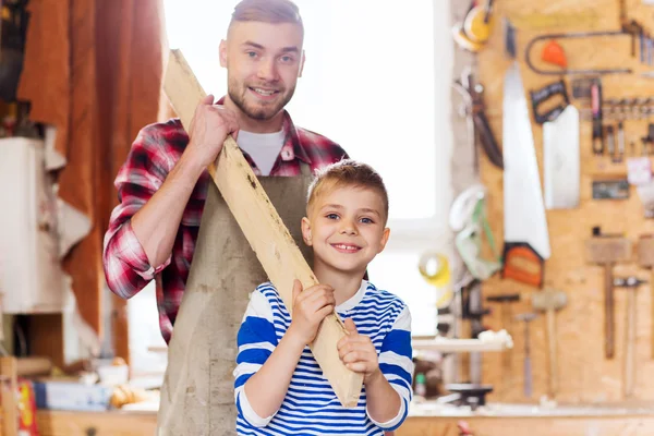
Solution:
<svg viewBox="0 0 654 436">
<path fill-rule="evenodd" d="M 633 396 L 635 382 L 635 300 L 638 288 L 645 283 L 638 277 L 626 277 L 614 280 L 615 288 L 627 290 L 627 311 L 625 311 L 625 362 L 623 362 L 623 395 L 625 398 Z"/>
</svg>

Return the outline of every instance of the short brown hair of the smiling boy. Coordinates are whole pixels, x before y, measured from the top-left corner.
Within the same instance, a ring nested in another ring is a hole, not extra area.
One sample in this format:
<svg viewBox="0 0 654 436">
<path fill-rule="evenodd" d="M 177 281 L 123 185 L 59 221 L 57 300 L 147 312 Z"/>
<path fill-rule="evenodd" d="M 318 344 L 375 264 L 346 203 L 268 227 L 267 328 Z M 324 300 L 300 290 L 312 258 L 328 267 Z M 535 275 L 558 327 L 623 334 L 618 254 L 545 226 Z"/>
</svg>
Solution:
<svg viewBox="0 0 654 436">
<path fill-rule="evenodd" d="M 336 187 L 367 187 L 382 196 L 384 221 L 388 220 L 388 192 L 382 175 L 373 167 L 353 159 L 343 159 L 316 170 L 315 179 L 308 186 L 306 209 L 311 209 L 316 197 Z"/>
</svg>

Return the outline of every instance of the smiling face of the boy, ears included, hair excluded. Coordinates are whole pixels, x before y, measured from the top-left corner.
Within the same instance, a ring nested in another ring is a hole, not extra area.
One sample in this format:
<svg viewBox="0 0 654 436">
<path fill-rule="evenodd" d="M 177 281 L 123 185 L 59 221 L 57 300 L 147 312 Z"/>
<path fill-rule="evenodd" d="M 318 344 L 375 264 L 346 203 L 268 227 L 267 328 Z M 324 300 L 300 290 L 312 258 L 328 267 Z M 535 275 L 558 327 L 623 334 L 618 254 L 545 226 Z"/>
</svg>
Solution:
<svg viewBox="0 0 654 436">
<path fill-rule="evenodd" d="M 363 277 L 386 245 L 389 230 L 385 225 L 384 202 L 375 190 L 326 190 L 302 220 L 304 241 L 314 249 L 314 269 Z"/>
</svg>

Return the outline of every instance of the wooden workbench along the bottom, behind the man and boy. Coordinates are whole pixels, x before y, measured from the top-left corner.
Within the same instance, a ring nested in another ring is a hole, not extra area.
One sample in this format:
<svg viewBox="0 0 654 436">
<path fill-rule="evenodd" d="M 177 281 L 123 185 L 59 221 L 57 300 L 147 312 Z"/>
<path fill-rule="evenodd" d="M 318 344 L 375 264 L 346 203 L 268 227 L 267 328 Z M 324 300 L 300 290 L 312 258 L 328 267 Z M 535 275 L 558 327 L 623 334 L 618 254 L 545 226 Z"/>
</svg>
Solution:
<svg viewBox="0 0 654 436">
<path fill-rule="evenodd" d="M 412 407 L 396 436 L 458 436 L 464 421 L 477 436 L 569 436 L 654 434 L 652 404 L 614 407 L 540 408 L 536 404 L 488 404 L 484 411 L 467 408 L 438 409 L 429 402 Z M 143 436 L 154 435 L 155 412 L 38 411 L 41 436 Z M 95 431 L 95 432 L 94 432 Z"/>
</svg>

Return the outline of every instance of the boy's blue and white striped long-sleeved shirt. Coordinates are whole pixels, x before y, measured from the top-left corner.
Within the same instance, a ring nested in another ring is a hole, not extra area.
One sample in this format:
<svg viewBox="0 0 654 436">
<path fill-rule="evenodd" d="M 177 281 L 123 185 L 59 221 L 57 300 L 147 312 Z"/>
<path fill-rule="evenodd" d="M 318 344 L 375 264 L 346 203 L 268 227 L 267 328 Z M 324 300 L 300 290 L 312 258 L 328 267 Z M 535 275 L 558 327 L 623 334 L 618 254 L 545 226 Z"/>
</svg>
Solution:
<svg viewBox="0 0 654 436">
<path fill-rule="evenodd" d="M 239 435 L 383 435 L 385 429 L 402 424 L 413 395 L 409 308 L 396 295 L 363 280 L 356 294 L 336 310 L 342 319 L 352 318 L 358 331 L 372 339 L 379 368 L 401 399 L 397 416 L 386 423 L 372 420 L 365 386 L 356 408 L 343 408 L 308 347 L 279 410 L 272 416 L 258 416 L 245 396 L 245 382 L 266 362 L 291 325 L 281 296 L 271 283 L 264 283 L 252 293 L 238 336 L 234 400 Z"/>
</svg>

